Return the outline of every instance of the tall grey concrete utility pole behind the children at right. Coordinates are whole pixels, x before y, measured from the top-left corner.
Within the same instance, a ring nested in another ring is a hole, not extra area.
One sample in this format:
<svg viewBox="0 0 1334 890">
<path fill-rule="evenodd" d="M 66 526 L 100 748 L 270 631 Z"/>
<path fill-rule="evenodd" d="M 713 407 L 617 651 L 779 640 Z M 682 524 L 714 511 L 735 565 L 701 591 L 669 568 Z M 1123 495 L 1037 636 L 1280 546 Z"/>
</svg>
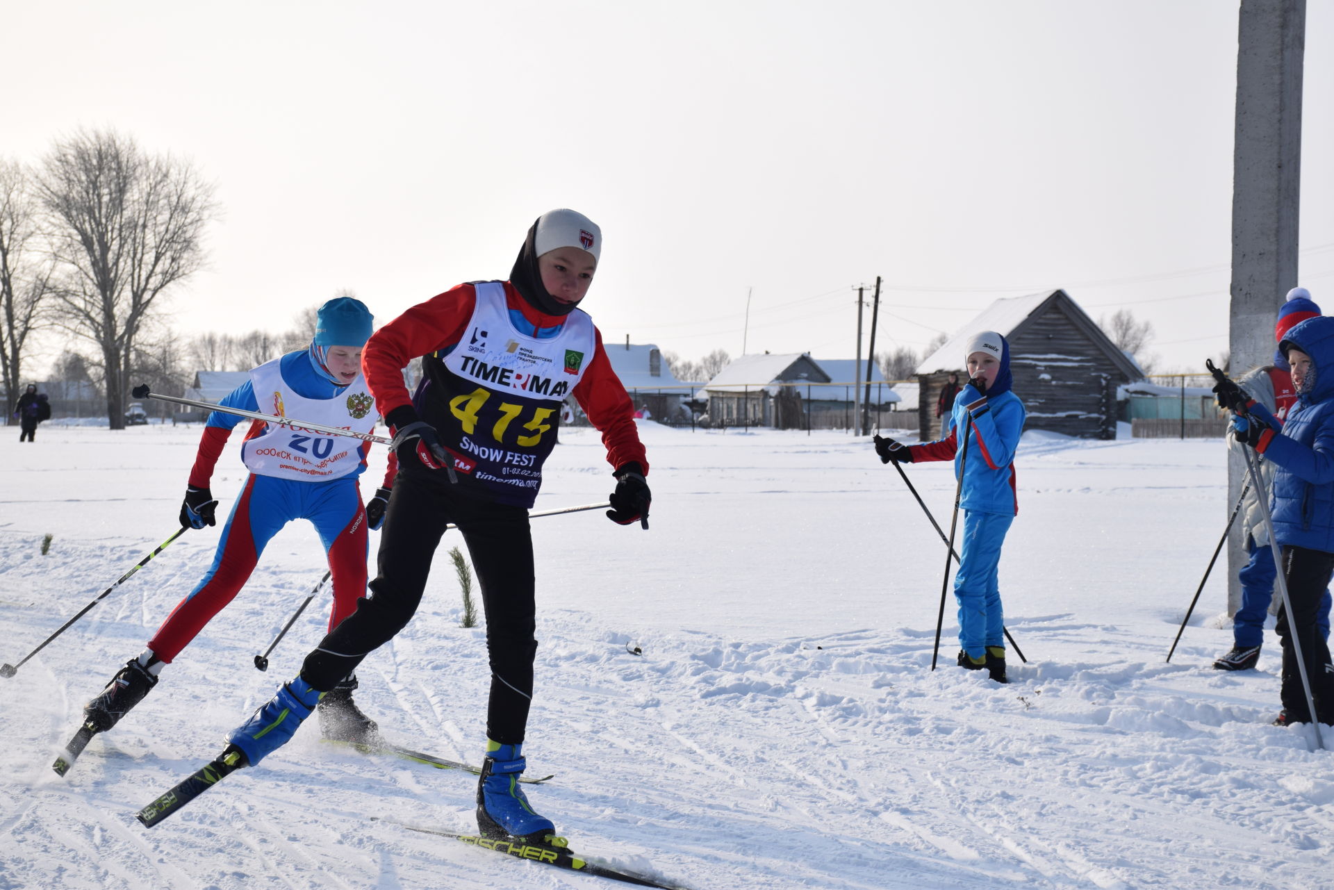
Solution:
<svg viewBox="0 0 1334 890">
<path fill-rule="evenodd" d="M 1297 286 L 1306 0 L 1242 0 L 1233 148 L 1233 284 L 1227 346 L 1235 378 L 1274 354 L 1274 318 Z M 1227 510 L 1246 466 L 1227 464 Z M 1227 547 L 1227 611 L 1241 607 L 1241 524 Z"/>
</svg>

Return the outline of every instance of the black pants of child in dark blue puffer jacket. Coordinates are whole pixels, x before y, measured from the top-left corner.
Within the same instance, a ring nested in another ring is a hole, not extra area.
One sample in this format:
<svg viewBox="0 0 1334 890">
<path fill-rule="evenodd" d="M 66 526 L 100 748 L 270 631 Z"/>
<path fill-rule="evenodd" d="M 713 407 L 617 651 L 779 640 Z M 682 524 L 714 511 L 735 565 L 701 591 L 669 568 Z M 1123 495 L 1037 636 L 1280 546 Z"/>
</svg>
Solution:
<svg viewBox="0 0 1334 890">
<path fill-rule="evenodd" d="M 1330 651 L 1325 635 L 1315 626 L 1321 598 L 1334 572 L 1334 554 L 1307 547 L 1283 547 L 1283 578 L 1287 580 L 1287 598 L 1293 602 L 1293 614 L 1287 607 L 1278 610 L 1278 639 L 1283 646 L 1283 710 L 1293 722 L 1310 719 L 1306 707 L 1306 694 L 1302 691 L 1302 675 L 1297 667 L 1297 650 L 1293 638 L 1302 646 L 1302 660 L 1306 662 L 1306 677 L 1311 682 L 1311 698 L 1315 699 L 1315 717 L 1321 723 L 1334 723 L 1334 673 L 1330 670 Z"/>
</svg>

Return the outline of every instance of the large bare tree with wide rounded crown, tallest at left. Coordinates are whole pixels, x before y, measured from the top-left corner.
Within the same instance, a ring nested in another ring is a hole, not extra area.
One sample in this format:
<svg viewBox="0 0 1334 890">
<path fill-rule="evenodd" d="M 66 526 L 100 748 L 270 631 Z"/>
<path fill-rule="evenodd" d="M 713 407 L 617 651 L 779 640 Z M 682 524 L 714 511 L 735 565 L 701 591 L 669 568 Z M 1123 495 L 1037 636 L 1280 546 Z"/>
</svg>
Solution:
<svg viewBox="0 0 1334 890">
<path fill-rule="evenodd" d="M 163 292 L 203 264 L 213 187 L 187 161 L 84 129 L 56 141 L 37 181 L 63 272 L 61 324 L 96 344 L 107 419 L 123 430 L 136 338 Z"/>
</svg>

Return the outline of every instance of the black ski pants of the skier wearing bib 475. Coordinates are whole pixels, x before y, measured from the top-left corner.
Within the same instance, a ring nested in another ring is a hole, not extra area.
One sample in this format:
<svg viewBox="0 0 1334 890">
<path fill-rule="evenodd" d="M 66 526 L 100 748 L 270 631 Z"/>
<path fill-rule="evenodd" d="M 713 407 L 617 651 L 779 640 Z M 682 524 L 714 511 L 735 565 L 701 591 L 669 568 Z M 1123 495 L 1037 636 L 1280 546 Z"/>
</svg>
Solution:
<svg viewBox="0 0 1334 890">
<path fill-rule="evenodd" d="M 487 735 L 518 745 L 528 723 L 538 652 L 528 511 L 459 494 L 443 471 L 414 467 L 399 472 L 380 531 L 379 574 L 356 611 L 307 655 L 301 679 L 320 691 L 334 689 L 407 626 L 450 523 L 463 534 L 482 588 L 491 660 Z"/>
</svg>

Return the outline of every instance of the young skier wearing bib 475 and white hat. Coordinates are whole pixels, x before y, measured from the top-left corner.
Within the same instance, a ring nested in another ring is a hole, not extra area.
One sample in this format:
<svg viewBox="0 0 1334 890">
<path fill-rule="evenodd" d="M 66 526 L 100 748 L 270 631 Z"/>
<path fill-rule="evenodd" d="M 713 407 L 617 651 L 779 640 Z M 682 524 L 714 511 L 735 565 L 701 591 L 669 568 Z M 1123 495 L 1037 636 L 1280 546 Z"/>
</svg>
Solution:
<svg viewBox="0 0 1334 890">
<path fill-rule="evenodd" d="M 291 738 L 321 693 L 408 623 L 444 527 L 455 523 L 480 582 L 491 662 L 478 826 L 491 838 L 560 843 L 518 778 L 538 648 L 527 510 L 566 396 L 602 431 L 615 468 L 607 515 L 647 524 L 650 506 L 635 407 L 592 319 L 576 308 L 600 252 L 602 232 L 588 217 L 543 213 L 508 282 L 460 284 L 410 308 L 367 343 L 363 367 L 399 456 L 379 575 L 358 611 L 305 658 L 300 677 L 232 733 L 232 746 L 249 763 Z M 410 398 L 402 368 L 416 356 L 424 356 L 424 378 Z"/>
</svg>

